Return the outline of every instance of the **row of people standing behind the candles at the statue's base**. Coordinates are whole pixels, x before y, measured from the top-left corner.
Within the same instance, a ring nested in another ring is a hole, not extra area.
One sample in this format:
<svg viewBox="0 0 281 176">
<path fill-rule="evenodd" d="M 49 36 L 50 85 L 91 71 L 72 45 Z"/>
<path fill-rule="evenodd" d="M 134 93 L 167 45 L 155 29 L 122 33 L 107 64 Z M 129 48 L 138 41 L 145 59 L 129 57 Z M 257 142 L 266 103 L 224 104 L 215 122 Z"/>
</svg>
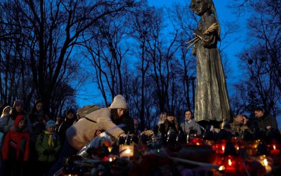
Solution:
<svg viewBox="0 0 281 176">
<path fill-rule="evenodd" d="M 277 126 L 276 118 L 268 113 L 265 113 L 261 108 L 257 107 L 253 110 L 255 114 L 254 119 L 249 119 L 246 115 L 235 115 L 233 122 L 223 121 L 220 124 L 219 129 L 215 129 L 214 126 L 199 125 L 193 118 L 191 110 L 185 111 L 185 121 L 178 124 L 174 113 L 161 113 L 159 121 L 154 128 L 154 133 L 158 135 L 167 134 L 169 130 L 173 129 L 176 134 L 183 133 L 185 135 L 189 133 L 196 134 L 197 136 L 203 136 L 206 131 L 219 132 L 225 130 L 229 132 L 230 136 L 242 137 L 243 133 L 247 131 L 249 134 L 259 137 L 265 136 L 269 131 L 275 131 L 280 133 Z"/>
</svg>

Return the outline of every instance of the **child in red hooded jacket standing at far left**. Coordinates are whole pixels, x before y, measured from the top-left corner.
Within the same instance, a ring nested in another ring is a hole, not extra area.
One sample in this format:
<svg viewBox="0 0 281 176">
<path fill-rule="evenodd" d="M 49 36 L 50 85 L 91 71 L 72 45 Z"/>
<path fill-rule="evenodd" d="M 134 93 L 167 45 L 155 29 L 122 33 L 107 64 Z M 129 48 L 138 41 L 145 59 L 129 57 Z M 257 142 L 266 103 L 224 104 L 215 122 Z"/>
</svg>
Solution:
<svg viewBox="0 0 281 176">
<path fill-rule="evenodd" d="M 4 138 L 2 159 L 4 175 L 21 175 L 24 161 L 29 159 L 30 134 L 25 131 L 27 118 L 18 115 L 15 119 L 15 131 L 10 130 Z"/>
</svg>

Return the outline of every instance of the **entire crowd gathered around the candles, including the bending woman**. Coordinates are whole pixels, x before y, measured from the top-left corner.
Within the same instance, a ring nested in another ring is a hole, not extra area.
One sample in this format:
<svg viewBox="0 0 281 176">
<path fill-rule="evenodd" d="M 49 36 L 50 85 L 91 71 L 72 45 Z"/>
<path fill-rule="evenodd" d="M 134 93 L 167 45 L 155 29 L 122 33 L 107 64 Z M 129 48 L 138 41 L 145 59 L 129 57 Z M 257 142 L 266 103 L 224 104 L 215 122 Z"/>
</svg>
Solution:
<svg viewBox="0 0 281 176">
<path fill-rule="evenodd" d="M 24 112 L 24 102 L 16 100 L 13 107 L 3 109 L 0 119 L 1 175 L 53 175 L 63 166 L 63 159 L 85 147 L 94 137 L 107 131 L 113 137 L 139 134 L 137 120 L 128 115 L 126 100 L 117 95 L 107 108 L 79 116 L 79 112 L 68 109 L 65 118 L 57 117 L 56 122 L 44 112 L 42 101 L 37 100 L 31 112 Z M 245 115 L 236 115 L 233 122 L 224 121 L 222 130 L 231 136 L 278 130 L 275 117 L 260 108 L 254 111 L 256 120 Z M 191 110 L 186 110 L 185 121 L 181 124 L 173 112 L 161 113 L 153 132 L 155 135 L 174 133 L 203 136 L 211 127 L 200 126 L 193 118 Z M 200 123 L 200 122 L 199 122 Z M 123 125 L 121 125 L 123 124 Z"/>
</svg>

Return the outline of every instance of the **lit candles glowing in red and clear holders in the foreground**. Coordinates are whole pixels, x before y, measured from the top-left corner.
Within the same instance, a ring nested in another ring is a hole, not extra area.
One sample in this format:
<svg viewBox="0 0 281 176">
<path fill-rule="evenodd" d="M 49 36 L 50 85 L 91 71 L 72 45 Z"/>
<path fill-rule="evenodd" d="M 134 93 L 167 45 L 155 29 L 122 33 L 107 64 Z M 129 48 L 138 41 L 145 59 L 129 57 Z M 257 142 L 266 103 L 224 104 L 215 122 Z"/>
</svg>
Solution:
<svg viewBox="0 0 281 176">
<path fill-rule="evenodd" d="M 257 147 L 261 143 L 260 140 L 252 141 L 252 142 L 243 142 L 237 138 L 232 140 L 232 144 L 235 148 L 236 153 L 246 151 L 246 153 L 250 156 L 253 156 L 253 160 L 258 161 L 263 167 L 266 169 L 266 173 L 270 173 L 272 170 L 272 159 L 268 155 L 256 155 Z M 226 150 L 226 141 L 208 141 L 202 140 L 200 138 L 194 138 L 189 142 L 189 145 L 209 145 L 215 152 L 221 155 L 221 160 L 218 162 L 218 170 L 224 171 L 224 173 L 234 173 L 237 172 L 237 167 L 244 166 L 244 161 L 240 155 L 224 155 Z M 279 144 L 267 144 L 267 151 L 270 155 L 279 155 L 280 147 Z M 108 147 L 109 152 L 112 147 Z M 120 145 L 119 146 L 119 156 L 120 158 L 129 159 L 134 154 L 134 146 L 133 145 Z M 255 156 L 254 156 L 255 155 Z M 109 155 L 106 160 L 113 161 L 115 160 L 115 156 Z M 241 169 L 241 168 L 240 168 Z"/>
</svg>

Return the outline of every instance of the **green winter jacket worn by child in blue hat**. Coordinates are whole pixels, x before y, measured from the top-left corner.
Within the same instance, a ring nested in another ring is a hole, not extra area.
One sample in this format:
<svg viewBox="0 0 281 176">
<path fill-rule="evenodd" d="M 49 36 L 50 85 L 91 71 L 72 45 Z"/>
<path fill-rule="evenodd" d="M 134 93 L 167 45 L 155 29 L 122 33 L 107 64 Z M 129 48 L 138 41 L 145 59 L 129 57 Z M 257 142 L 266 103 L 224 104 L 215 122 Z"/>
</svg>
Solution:
<svg viewBox="0 0 281 176">
<path fill-rule="evenodd" d="M 49 146 L 48 141 L 50 135 L 52 135 L 54 146 Z M 44 132 L 37 137 L 35 147 L 36 147 L 36 151 L 38 152 L 39 161 L 54 162 L 57 160 L 57 155 L 60 152 L 61 143 L 56 134 L 54 133 L 50 134 L 48 132 Z"/>
</svg>

